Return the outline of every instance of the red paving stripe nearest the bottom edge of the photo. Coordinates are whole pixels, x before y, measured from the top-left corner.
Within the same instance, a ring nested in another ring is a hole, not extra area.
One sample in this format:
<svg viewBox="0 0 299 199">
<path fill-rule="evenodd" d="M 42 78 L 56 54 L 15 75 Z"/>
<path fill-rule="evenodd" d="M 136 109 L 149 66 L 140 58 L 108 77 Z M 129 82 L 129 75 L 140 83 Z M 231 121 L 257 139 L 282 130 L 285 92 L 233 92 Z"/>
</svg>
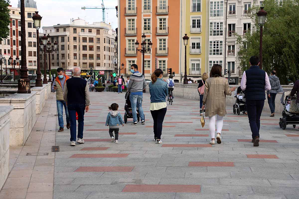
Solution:
<svg viewBox="0 0 299 199">
<path fill-rule="evenodd" d="M 200 193 L 200 185 L 127 184 L 122 192 L 185 192 Z"/>
</svg>

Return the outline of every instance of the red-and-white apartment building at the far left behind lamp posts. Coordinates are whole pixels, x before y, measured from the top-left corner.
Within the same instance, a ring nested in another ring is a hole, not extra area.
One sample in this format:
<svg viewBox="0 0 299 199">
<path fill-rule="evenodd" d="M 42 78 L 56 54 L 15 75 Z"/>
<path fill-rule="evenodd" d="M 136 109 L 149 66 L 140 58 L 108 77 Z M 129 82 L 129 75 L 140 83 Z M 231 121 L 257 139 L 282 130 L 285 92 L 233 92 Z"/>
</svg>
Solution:
<svg viewBox="0 0 299 199">
<path fill-rule="evenodd" d="M 5 64 L 7 64 L 7 74 L 12 74 L 13 69 L 10 65 L 10 56 L 15 60 L 20 59 L 21 64 L 21 3 L 18 7 L 9 6 L 10 10 L 10 32 L 8 38 L 2 38 L 0 41 L 0 54 L 4 55 L 5 62 L 2 66 L 2 72 L 5 74 Z M 36 2 L 33 0 L 25 1 L 25 25 L 26 25 L 26 59 L 28 74 L 36 74 L 36 29 L 34 27 L 32 16 L 37 11 Z M 18 75 L 19 66 L 15 66 L 15 74 Z M 9 69 L 9 70 L 8 70 Z"/>
</svg>

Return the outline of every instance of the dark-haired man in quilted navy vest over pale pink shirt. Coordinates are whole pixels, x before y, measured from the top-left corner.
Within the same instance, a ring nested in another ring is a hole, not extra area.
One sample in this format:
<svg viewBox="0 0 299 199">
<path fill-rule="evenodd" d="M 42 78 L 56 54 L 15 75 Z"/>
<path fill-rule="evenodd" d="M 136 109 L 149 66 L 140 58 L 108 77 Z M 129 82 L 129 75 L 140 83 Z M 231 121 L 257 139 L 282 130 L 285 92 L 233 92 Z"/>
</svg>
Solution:
<svg viewBox="0 0 299 199">
<path fill-rule="evenodd" d="M 244 71 L 242 76 L 241 89 L 245 90 L 253 146 L 259 146 L 260 116 L 266 100 L 265 90 L 271 90 L 271 85 L 267 73 L 258 66 L 260 64 L 258 56 L 252 56 L 249 64 L 251 67 Z"/>
</svg>

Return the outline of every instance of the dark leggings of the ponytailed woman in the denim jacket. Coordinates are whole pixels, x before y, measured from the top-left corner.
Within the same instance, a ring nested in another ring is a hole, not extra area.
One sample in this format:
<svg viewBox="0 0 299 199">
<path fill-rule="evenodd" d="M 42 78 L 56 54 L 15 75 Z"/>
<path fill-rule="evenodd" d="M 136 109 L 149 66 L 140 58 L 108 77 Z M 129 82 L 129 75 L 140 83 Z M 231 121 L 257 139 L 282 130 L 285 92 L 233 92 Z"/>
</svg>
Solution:
<svg viewBox="0 0 299 199">
<path fill-rule="evenodd" d="M 150 111 L 152 114 L 152 119 L 154 120 L 154 136 L 155 138 L 161 140 L 162 135 L 162 125 L 167 108 Z"/>
</svg>

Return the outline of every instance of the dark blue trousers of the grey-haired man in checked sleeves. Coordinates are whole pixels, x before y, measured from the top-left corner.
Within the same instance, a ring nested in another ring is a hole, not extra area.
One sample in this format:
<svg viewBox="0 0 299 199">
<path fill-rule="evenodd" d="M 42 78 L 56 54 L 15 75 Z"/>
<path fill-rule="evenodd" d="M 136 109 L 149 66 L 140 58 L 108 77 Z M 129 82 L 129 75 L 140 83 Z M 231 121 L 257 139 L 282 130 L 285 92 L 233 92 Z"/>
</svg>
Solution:
<svg viewBox="0 0 299 199">
<path fill-rule="evenodd" d="M 78 138 L 83 138 L 85 104 L 68 104 L 68 114 L 71 121 L 71 141 L 76 141 L 76 112 L 78 113 Z"/>
</svg>

